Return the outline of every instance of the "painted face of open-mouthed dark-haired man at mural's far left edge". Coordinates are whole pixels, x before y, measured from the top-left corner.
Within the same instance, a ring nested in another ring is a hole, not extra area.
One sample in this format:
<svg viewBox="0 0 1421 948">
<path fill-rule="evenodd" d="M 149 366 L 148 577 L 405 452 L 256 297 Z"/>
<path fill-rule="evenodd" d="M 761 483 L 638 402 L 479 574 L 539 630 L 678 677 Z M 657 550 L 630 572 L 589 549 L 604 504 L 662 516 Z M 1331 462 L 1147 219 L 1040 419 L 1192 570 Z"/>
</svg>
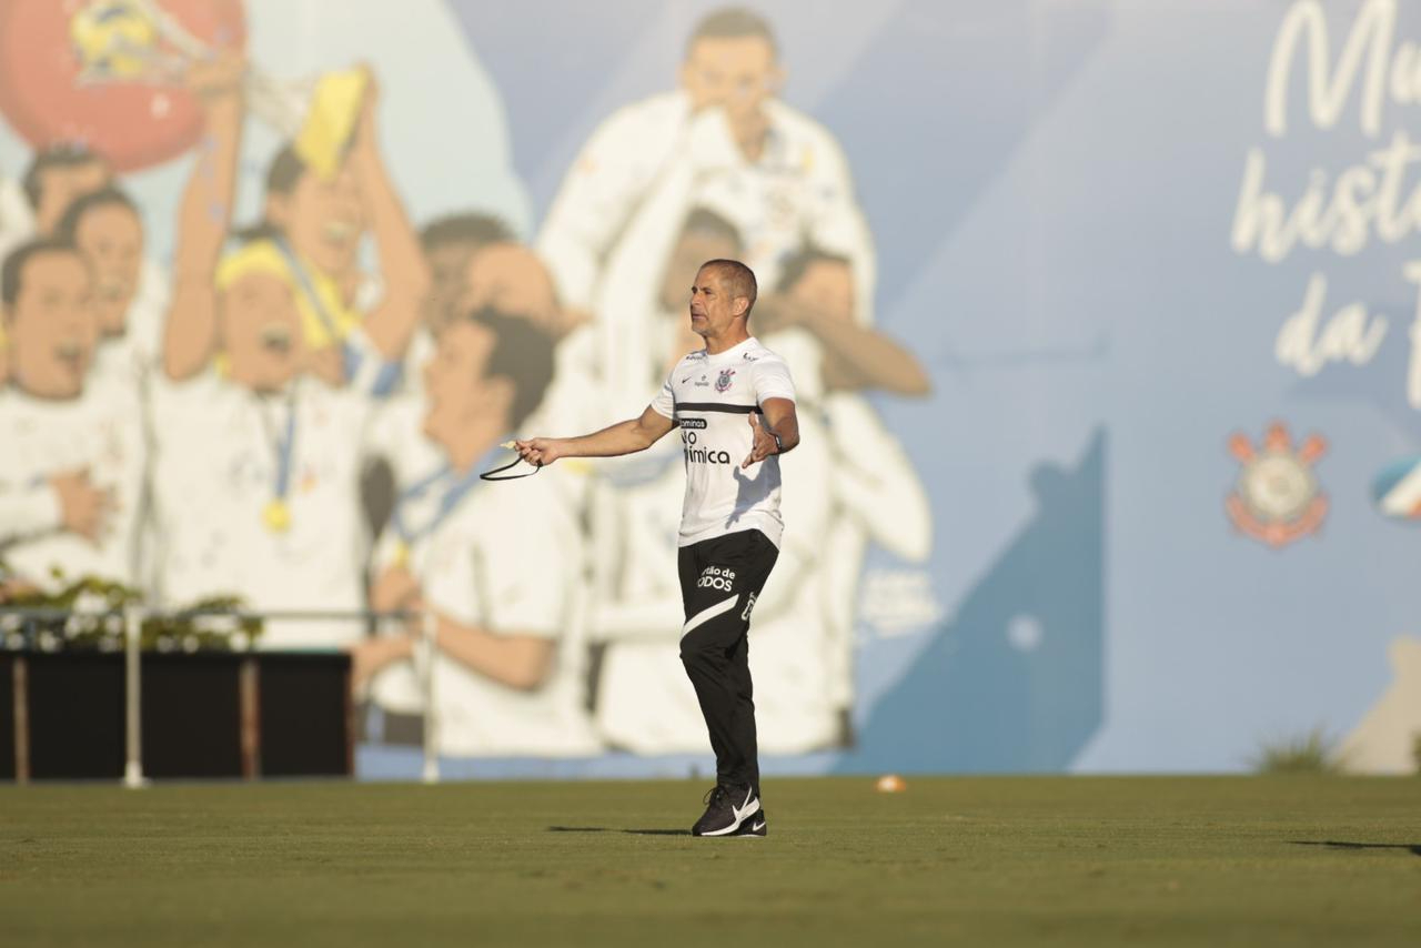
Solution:
<svg viewBox="0 0 1421 948">
<path fill-rule="evenodd" d="M 88 266 L 70 250 L 30 257 L 6 311 L 10 375 L 40 398 L 77 398 L 94 361 L 98 317 Z"/>
</svg>

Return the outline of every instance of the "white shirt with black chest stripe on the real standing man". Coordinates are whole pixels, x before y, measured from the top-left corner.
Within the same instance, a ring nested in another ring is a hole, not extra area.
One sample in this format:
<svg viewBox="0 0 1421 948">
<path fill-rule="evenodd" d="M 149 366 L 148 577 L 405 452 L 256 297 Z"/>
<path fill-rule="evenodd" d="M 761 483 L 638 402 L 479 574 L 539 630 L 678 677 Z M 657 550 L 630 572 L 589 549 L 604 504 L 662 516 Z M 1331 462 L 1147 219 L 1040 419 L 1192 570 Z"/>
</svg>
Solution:
<svg viewBox="0 0 1421 948">
<path fill-rule="evenodd" d="M 759 530 L 779 547 L 780 459 L 740 469 L 755 443 L 750 415 L 760 415 L 770 398 L 794 401 L 794 382 L 784 360 L 752 335 L 715 355 L 691 352 L 652 399 L 652 409 L 681 428 L 686 497 L 679 546 Z"/>
</svg>

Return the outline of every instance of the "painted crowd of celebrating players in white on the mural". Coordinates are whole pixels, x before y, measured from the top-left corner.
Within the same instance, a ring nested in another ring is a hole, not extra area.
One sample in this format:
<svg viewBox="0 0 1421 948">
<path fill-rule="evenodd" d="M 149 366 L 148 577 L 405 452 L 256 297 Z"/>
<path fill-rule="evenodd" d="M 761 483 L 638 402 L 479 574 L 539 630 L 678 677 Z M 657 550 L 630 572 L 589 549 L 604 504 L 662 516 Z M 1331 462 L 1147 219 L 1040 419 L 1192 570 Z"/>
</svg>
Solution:
<svg viewBox="0 0 1421 948">
<path fill-rule="evenodd" d="M 679 445 L 480 482 L 537 428 L 634 415 L 699 348 L 686 297 L 745 260 L 752 331 L 790 364 L 803 446 L 756 605 L 767 753 L 851 739 L 865 550 L 926 559 L 926 496 L 867 394 L 922 395 L 874 328 L 874 252 L 833 136 L 777 92 L 770 26 L 703 18 L 676 88 L 583 146 L 531 244 L 479 209 L 411 220 L 379 80 L 321 77 L 236 220 L 249 64 L 188 67 L 203 132 L 172 260 L 104 153 L 38 148 L 0 178 L 0 601 L 101 577 L 156 608 L 236 596 L 263 648 L 348 650 L 388 725 L 423 713 L 431 611 L 441 750 L 699 750 L 674 665 Z M 379 736 L 379 735 L 377 735 Z"/>
</svg>

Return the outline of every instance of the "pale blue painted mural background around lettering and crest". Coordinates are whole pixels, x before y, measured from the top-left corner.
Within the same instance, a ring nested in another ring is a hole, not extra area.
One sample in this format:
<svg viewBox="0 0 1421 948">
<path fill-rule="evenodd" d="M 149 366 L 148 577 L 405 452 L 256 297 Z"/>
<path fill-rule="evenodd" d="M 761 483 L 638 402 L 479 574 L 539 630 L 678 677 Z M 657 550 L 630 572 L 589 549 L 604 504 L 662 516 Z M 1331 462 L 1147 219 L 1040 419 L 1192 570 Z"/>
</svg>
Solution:
<svg viewBox="0 0 1421 948">
<path fill-rule="evenodd" d="M 669 87 L 715 6 L 453 3 L 534 217 L 611 109 Z M 1370 139 L 1353 92 L 1313 128 L 1299 55 L 1289 134 L 1270 138 L 1266 70 L 1290 6 L 755 4 L 786 101 L 850 158 L 878 325 L 934 377 L 931 399 L 878 406 L 931 492 L 948 613 L 865 632 L 858 752 L 780 767 L 1236 770 L 1265 740 L 1346 732 L 1385 688 L 1385 644 L 1418 630 L 1418 537 L 1373 510 L 1368 485 L 1417 448 L 1401 277 L 1415 243 L 1269 264 L 1229 236 L 1249 148 L 1292 208 L 1310 169 L 1363 161 L 1415 107 L 1388 104 Z M 1327 4 L 1333 57 L 1360 9 Z M 1401 4 L 1395 34 L 1421 40 L 1421 10 Z M 1302 379 L 1275 360 L 1314 271 L 1324 316 L 1358 300 L 1390 320 L 1370 365 Z M 1331 513 L 1282 550 L 1223 512 L 1229 435 L 1258 441 L 1273 419 L 1329 441 Z M 1030 651 L 1009 635 L 1022 617 Z"/>
</svg>

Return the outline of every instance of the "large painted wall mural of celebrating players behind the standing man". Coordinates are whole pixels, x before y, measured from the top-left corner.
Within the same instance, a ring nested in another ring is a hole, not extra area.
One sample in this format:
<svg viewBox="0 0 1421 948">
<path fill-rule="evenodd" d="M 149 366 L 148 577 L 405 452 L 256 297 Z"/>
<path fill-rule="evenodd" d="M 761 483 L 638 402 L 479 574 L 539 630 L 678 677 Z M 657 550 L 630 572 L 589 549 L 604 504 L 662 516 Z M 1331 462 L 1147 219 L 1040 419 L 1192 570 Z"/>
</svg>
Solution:
<svg viewBox="0 0 1421 948">
<path fill-rule="evenodd" d="M 259 644 L 350 651 L 367 773 L 684 773 L 684 446 L 475 475 L 739 257 L 767 772 L 1398 766 L 1421 11 L 1137 6 L 0 0 L 0 596 L 428 608 Z"/>
</svg>

